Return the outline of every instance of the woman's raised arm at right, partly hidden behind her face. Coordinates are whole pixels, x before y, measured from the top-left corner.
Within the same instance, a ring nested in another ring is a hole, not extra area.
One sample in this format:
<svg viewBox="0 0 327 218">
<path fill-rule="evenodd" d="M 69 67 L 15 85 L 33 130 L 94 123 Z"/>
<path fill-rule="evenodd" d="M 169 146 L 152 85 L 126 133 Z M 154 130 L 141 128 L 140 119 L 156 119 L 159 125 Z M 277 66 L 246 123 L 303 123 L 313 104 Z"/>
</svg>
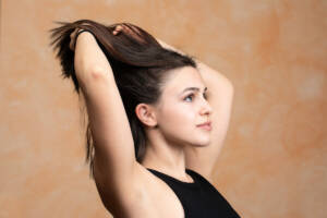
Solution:
<svg viewBox="0 0 327 218">
<path fill-rule="evenodd" d="M 157 39 L 164 48 L 184 55 L 183 51 Z M 207 98 L 214 111 L 210 117 L 213 122 L 211 143 L 207 147 L 186 147 L 186 168 L 199 172 L 213 182 L 213 170 L 220 154 L 228 131 L 231 106 L 233 99 L 232 83 L 220 72 L 211 69 L 199 60 L 195 60 L 199 74 L 208 87 Z"/>
</svg>

